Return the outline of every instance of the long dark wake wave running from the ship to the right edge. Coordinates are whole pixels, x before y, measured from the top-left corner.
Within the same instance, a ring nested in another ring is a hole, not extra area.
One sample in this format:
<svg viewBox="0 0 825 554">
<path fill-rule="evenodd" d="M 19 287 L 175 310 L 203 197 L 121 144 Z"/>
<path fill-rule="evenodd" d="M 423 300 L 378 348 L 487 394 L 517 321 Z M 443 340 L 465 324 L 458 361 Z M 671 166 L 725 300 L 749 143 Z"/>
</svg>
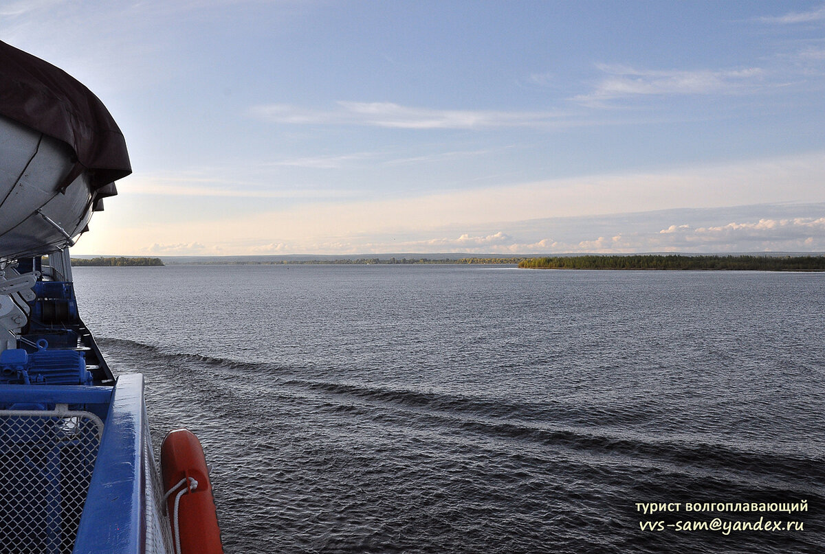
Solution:
<svg viewBox="0 0 825 554">
<path fill-rule="evenodd" d="M 283 368 L 271 364 L 254 364 L 202 354 L 169 353 L 157 345 L 142 342 L 100 338 L 104 349 L 125 350 L 127 354 L 148 354 L 171 367 L 208 366 L 256 373 L 266 378 L 268 386 L 283 391 L 301 389 L 341 397 L 325 403 L 325 408 L 337 413 L 351 413 L 381 420 L 398 421 L 401 425 L 422 425 L 431 429 L 461 430 L 495 439 L 518 440 L 549 448 L 566 448 L 573 452 L 589 452 L 600 456 L 620 456 L 647 459 L 652 462 L 705 468 L 737 468 L 740 471 L 785 477 L 807 476 L 825 479 L 825 458 L 813 451 L 808 455 L 773 452 L 764 444 L 750 448 L 725 444 L 724 438 L 694 435 L 678 438 L 667 433 L 645 430 L 644 425 L 662 415 L 657 406 L 598 406 L 561 401 L 524 402 L 497 397 L 469 397 L 444 392 L 420 392 L 392 387 L 370 387 L 362 384 L 336 383 L 285 377 L 284 371 L 307 368 Z M 281 372 L 275 379 L 273 372 Z M 317 369 L 315 369 L 317 371 Z M 273 391 L 274 392 L 274 391 Z M 394 411 L 360 411 L 351 406 L 353 399 L 378 403 L 384 407 L 400 407 Z M 409 412 L 412 411 L 411 415 Z M 710 439 L 710 440 L 709 440 Z"/>
</svg>

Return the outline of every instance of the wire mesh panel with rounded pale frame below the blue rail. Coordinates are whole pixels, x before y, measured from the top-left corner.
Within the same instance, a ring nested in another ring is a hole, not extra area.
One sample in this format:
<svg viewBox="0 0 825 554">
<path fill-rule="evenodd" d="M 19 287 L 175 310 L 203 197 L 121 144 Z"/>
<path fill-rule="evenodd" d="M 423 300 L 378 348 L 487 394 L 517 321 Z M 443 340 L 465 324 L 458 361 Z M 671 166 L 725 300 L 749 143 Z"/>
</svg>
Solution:
<svg viewBox="0 0 825 554">
<path fill-rule="evenodd" d="M 102 430 L 65 405 L 0 411 L 0 554 L 71 554 Z"/>
</svg>

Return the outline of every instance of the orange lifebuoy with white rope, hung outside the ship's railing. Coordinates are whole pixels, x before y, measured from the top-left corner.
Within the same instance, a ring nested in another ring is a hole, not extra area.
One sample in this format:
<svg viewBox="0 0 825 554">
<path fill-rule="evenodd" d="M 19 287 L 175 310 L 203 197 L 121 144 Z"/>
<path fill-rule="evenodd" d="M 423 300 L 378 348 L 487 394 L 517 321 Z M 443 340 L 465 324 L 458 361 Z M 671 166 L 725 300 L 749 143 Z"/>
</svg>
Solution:
<svg viewBox="0 0 825 554">
<path fill-rule="evenodd" d="M 186 429 L 170 431 L 160 449 L 172 541 L 180 554 L 223 554 L 203 447 Z"/>
</svg>

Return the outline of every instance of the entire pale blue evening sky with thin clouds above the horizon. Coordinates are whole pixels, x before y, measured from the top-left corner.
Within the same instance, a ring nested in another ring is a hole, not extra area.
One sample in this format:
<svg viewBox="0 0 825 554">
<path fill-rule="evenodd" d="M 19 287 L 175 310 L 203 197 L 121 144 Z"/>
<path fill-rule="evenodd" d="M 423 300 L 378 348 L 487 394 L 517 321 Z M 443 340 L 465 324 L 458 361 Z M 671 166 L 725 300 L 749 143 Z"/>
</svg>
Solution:
<svg viewBox="0 0 825 554">
<path fill-rule="evenodd" d="M 0 0 L 134 173 L 73 253 L 825 251 L 825 2 Z"/>
</svg>

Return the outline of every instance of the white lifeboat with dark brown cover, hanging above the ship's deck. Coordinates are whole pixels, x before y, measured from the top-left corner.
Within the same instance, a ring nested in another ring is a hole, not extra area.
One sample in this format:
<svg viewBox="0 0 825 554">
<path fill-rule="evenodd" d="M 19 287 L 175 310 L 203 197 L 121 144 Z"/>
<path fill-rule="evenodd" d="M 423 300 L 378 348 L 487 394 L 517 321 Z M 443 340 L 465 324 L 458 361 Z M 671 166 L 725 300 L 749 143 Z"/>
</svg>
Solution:
<svg viewBox="0 0 825 554">
<path fill-rule="evenodd" d="M 50 63 L 0 42 L 0 263 L 72 246 L 131 172 L 101 101 Z"/>
</svg>

